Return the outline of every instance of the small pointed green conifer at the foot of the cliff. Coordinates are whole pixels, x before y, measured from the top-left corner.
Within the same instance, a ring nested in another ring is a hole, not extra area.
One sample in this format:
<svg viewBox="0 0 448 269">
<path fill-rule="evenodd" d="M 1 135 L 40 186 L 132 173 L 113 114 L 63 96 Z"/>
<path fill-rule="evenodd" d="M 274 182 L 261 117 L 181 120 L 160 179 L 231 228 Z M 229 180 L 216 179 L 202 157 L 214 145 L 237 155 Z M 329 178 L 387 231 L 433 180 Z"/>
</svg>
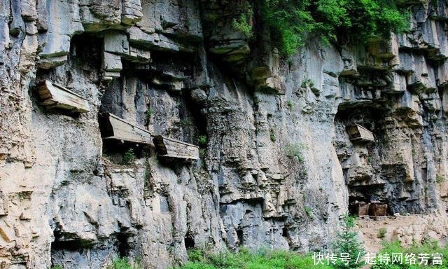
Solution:
<svg viewBox="0 0 448 269">
<path fill-rule="evenodd" d="M 351 269 L 363 267 L 363 257 L 365 255 L 365 249 L 363 242 L 358 239 L 358 233 L 353 229 L 355 226 L 355 219 L 353 216 L 345 215 L 342 219 L 342 230 L 337 233 L 337 239 L 334 244 L 335 253 L 339 257 L 335 268 L 337 269 Z M 344 257 L 348 254 L 349 258 L 344 260 L 340 257 Z M 348 263 L 347 263 L 348 261 Z"/>
</svg>

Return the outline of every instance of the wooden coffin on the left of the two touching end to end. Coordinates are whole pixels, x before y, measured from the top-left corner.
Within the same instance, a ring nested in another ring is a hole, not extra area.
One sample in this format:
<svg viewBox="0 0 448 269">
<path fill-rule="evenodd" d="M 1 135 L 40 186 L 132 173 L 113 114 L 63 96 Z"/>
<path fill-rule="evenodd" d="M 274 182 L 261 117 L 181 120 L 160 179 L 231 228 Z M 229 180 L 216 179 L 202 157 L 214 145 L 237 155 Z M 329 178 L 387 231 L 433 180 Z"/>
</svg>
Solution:
<svg viewBox="0 0 448 269">
<path fill-rule="evenodd" d="M 151 144 L 151 132 L 133 125 L 112 113 L 105 113 L 100 123 L 104 139 L 118 139 L 134 143 Z"/>
</svg>

